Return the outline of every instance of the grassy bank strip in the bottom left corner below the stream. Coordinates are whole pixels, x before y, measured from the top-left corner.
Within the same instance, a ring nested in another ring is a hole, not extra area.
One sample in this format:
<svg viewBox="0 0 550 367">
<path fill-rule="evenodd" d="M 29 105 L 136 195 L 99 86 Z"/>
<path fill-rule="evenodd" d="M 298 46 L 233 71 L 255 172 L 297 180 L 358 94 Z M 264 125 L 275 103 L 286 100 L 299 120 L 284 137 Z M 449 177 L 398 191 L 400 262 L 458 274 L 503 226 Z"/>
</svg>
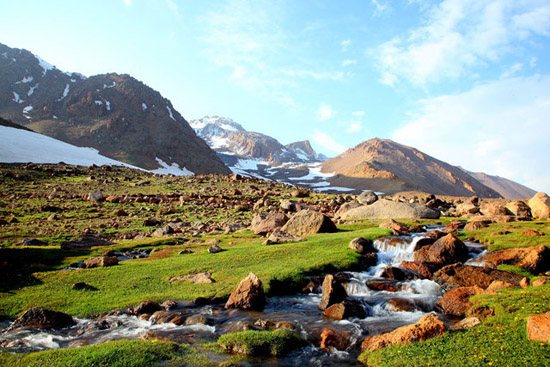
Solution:
<svg viewBox="0 0 550 367">
<path fill-rule="evenodd" d="M 0 352 L 0 365 L 11 367 L 149 367 L 184 361 L 191 349 L 159 340 L 119 340 L 94 346 L 30 354 Z"/>
</svg>

